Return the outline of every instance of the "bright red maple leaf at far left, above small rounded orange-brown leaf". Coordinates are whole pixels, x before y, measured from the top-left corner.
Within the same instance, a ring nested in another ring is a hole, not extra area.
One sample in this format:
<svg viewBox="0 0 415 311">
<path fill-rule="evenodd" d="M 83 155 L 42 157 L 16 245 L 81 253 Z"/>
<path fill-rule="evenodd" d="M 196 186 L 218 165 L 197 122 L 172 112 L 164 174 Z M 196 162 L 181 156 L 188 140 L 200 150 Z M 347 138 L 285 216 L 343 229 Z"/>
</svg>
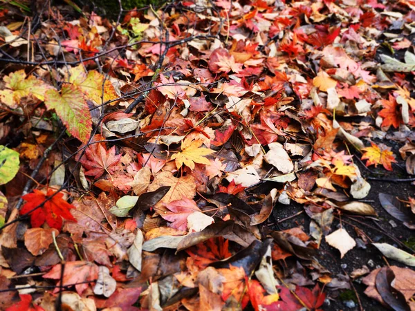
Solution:
<svg viewBox="0 0 415 311">
<path fill-rule="evenodd" d="M 76 222 L 76 219 L 69 212 L 69 209 L 75 207 L 62 199 L 64 194 L 56 194 L 53 198 L 45 202 L 53 194 L 55 194 L 55 191 L 52 189 L 48 189 L 46 195 L 42 191 L 35 189 L 33 193 L 21 197 L 28 202 L 21 207 L 20 214 L 30 215 L 30 224 L 32 227 L 40 227 L 46 221 L 49 227 L 60 230 L 62 228 L 62 218 Z M 45 203 L 42 207 L 35 209 L 35 207 L 43 202 Z"/>
</svg>

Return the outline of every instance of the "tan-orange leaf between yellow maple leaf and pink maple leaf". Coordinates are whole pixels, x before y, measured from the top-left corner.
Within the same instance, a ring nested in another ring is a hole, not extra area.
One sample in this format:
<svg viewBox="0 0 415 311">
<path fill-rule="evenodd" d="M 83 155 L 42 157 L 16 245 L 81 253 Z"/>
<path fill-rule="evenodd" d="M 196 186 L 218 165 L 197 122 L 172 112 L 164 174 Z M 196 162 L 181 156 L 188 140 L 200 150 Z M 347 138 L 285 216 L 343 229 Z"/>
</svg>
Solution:
<svg viewBox="0 0 415 311">
<path fill-rule="evenodd" d="M 196 185 L 194 184 L 194 177 L 191 175 L 176 178 L 171 171 L 162 171 L 154 178 L 147 191 L 156 191 L 163 186 L 170 186 L 171 188 L 155 205 L 156 208 L 162 207 L 163 203 L 167 204 L 174 200 L 181 200 L 183 197 L 192 199 L 196 195 Z"/>
</svg>

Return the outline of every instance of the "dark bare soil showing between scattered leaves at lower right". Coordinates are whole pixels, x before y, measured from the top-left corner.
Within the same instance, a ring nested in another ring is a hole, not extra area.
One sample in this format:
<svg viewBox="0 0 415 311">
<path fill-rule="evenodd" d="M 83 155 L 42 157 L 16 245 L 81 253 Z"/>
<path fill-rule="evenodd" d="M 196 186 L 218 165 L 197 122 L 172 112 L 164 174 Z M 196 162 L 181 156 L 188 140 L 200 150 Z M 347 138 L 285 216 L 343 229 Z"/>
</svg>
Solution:
<svg viewBox="0 0 415 311">
<path fill-rule="evenodd" d="M 398 164 L 398 165 L 401 165 Z M 365 169 L 360 167 L 360 170 L 363 172 Z M 396 168 L 396 171 L 399 171 L 398 168 Z M 395 177 L 396 174 L 394 174 Z M 411 176 L 405 176 L 406 178 Z M 388 178 L 391 178 L 388 176 Z M 399 177 L 402 178 L 402 177 Z M 408 196 L 414 196 L 415 194 L 415 186 L 412 185 L 411 182 L 400 182 L 400 183 L 394 183 L 394 182 L 380 182 L 380 181 L 370 181 L 371 184 L 371 191 L 369 192 L 369 195 L 362 200 L 363 202 L 367 202 L 370 205 L 372 205 L 376 212 L 378 213 L 378 220 L 374 220 L 372 218 L 368 217 L 356 217 L 353 216 L 356 220 L 358 220 L 360 223 L 354 221 L 353 219 L 344 216 L 342 218 L 342 225 L 345 229 L 347 229 L 347 232 L 353 237 L 358 238 L 356 234 L 356 227 L 358 229 L 361 229 L 369 238 L 371 238 L 372 241 L 377 243 L 389 243 L 391 245 L 394 245 L 395 247 L 399 247 L 400 249 L 405 249 L 407 252 L 411 252 L 410 249 L 405 248 L 405 245 L 398 244 L 397 241 L 400 242 L 407 242 L 409 238 L 414 236 L 414 232 L 412 232 L 410 229 L 407 229 L 403 225 L 403 223 L 400 223 L 399 220 L 394 219 L 392 216 L 387 214 L 385 209 L 382 208 L 379 202 L 378 194 L 385 193 L 385 194 L 391 194 L 394 196 L 397 196 L 401 200 L 407 200 Z M 302 211 L 303 205 L 299 205 L 296 202 L 291 202 L 291 205 L 281 205 L 278 204 L 273 212 L 274 221 L 278 222 L 279 220 L 282 220 L 284 218 L 287 218 L 289 216 L 295 215 L 299 211 Z M 396 223 L 396 227 L 392 227 L 392 225 L 389 223 L 390 220 L 393 220 L 394 223 Z M 304 232 L 309 232 L 309 223 L 310 218 L 305 213 L 299 214 L 298 216 L 295 216 L 294 218 L 290 218 L 288 220 L 282 221 L 281 223 L 278 223 L 277 228 L 279 230 L 284 229 L 290 229 L 293 227 L 301 227 Z M 332 230 L 334 231 L 335 228 L 340 225 L 339 221 L 335 219 L 333 221 Z M 321 256 L 318 258 L 318 261 L 321 265 L 323 265 L 326 270 L 329 270 L 332 273 L 332 276 L 336 276 L 337 274 L 344 274 L 344 272 L 347 272 L 347 274 L 350 274 L 353 272 L 353 270 L 356 270 L 363 265 L 367 265 L 369 269 L 375 270 L 377 267 L 385 266 L 385 261 L 382 258 L 382 254 L 370 243 L 366 245 L 366 249 L 359 248 L 356 246 L 355 248 L 351 249 L 344 258 L 340 259 L 340 252 L 338 252 L 337 249 L 334 249 L 333 247 L 329 246 L 323 238 L 323 241 L 320 245 L 320 253 Z M 407 267 L 405 265 L 400 264 L 397 261 L 393 260 L 387 260 L 389 262 L 389 265 L 397 265 L 399 267 Z M 364 292 L 366 289 L 366 285 L 362 283 L 362 278 L 358 278 L 355 281 L 353 281 L 353 285 L 356 288 L 356 292 L 358 293 L 358 296 L 360 298 L 360 301 L 362 303 L 362 308 L 364 310 L 389 310 L 385 308 L 385 306 L 381 305 L 374 299 L 370 299 L 367 297 Z M 353 289 L 352 289 L 353 290 Z M 344 296 L 342 295 L 342 298 L 340 298 L 341 291 L 330 291 L 328 292 L 328 301 L 324 304 L 324 310 L 359 310 L 359 305 L 356 303 L 355 308 L 347 308 L 345 305 Z M 350 293 L 349 293 L 350 294 Z M 352 296 L 353 293 L 351 292 Z"/>
</svg>

